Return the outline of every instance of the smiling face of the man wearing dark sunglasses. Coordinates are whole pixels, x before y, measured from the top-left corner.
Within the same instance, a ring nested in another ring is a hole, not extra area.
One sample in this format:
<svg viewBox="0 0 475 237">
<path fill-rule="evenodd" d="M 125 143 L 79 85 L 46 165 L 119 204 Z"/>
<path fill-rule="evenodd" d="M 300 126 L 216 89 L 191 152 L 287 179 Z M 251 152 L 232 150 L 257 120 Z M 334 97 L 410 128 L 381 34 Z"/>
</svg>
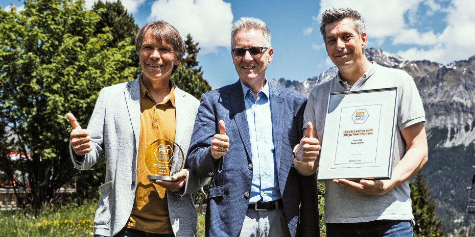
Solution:
<svg viewBox="0 0 475 237">
<path fill-rule="evenodd" d="M 264 34 L 260 30 L 243 28 L 234 37 L 232 48 L 265 47 Z M 267 64 L 272 61 L 273 49 L 263 49 L 260 56 L 251 56 L 246 51 L 244 57 L 235 57 L 232 52 L 232 62 L 241 81 L 249 88 L 252 85 L 263 85 L 266 78 Z"/>
</svg>

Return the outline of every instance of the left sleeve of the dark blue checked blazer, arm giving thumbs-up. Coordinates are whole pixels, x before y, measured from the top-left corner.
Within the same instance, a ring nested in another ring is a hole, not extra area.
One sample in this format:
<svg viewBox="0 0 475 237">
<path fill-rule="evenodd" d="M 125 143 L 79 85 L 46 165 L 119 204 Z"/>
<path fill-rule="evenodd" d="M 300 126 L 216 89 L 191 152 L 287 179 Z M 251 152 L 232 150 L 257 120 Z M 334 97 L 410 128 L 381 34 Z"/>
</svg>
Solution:
<svg viewBox="0 0 475 237">
<path fill-rule="evenodd" d="M 211 177 L 221 172 L 221 162 L 211 155 L 211 140 L 216 134 L 216 115 L 207 93 L 201 96 L 200 107 L 196 115 L 195 127 L 188 150 L 188 167 L 200 177 Z M 222 159 L 222 158 L 221 158 Z"/>
</svg>

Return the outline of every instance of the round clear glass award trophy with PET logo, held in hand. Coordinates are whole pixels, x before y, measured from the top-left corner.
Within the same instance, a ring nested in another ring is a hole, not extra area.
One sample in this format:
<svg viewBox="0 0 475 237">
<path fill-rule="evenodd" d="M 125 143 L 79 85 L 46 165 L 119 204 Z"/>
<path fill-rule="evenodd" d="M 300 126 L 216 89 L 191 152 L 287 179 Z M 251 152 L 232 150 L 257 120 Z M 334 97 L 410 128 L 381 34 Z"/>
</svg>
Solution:
<svg viewBox="0 0 475 237">
<path fill-rule="evenodd" d="M 173 150 L 174 146 L 178 152 Z M 183 151 L 174 141 L 157 140 L 153 142 L 145 151 L 145 168 L 151 180 L 172 180 L 172 174 L 179 172 L 183 168 Z M 175 164 L 180 162 L 181 164 Z M 175 168 L 175 169 L 174 169 Z M 178 168 L 178 169 L 176 169 Z"/>
</svg>

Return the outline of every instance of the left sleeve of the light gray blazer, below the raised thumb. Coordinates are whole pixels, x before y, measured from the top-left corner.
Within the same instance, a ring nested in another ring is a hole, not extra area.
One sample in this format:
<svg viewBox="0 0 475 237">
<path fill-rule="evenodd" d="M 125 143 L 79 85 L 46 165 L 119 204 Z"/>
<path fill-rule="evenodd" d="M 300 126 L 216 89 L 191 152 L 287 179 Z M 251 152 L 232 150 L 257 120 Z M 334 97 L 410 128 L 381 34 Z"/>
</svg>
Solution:
<svg viewBox="0 0 475 237">
<path fill-rule="evenodd" d="M 105 97 L 104 89 L 99 93 L 96 101 L 96 106 L 92 112 L 87 131 L 91 137 L 92 150 L 84 156 L 78 156 L 74 153 L 71 144 L 69 143 L 69 154 L 73 160 L 74 167 L 80 170 L 90 169 L 101 156 L 104 151 L 104 120 L 105 120 Z"/>
</svg>

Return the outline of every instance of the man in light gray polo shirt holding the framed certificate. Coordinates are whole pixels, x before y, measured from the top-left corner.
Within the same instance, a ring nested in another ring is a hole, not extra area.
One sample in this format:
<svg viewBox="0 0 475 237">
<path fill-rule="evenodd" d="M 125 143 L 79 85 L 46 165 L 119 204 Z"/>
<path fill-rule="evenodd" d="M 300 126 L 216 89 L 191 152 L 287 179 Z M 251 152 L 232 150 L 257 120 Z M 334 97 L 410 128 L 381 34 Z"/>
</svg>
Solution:
<svg viewBox="0 0 475 237">
<path fill-rule="evenodd" d="M 388 180 L 326 181 L 325 224 L 327 236 L 413 236 L 409 179 L 427 162 L 425 114 L 413 78 L 399 69 L 369 62 L 364 54 L 367 38 L 362 16 L 352 9 L 331 9 L 323 13 L 320 31 L 338 75 L 316 86 L 304 112 L 312 122 L 313 137 L 323 138 L 329 92 L 399 88 L 397 129 Z M 310 124 L 310 123 L 309 123 Z M 303 134 L 307 134 L 308 125 Z M 334 133 L 334 131 L 325 131 Z M 304 139 L 298 145 L 309 147 Z M 325 144 L 321 144 L 325 149 Z M 296 147 L 295 159 L 314 162 Z M 357 233 L 366 235 L 357 235 Z M 397 235 L 396 235 L 397 234 Z"/>
</svg>

